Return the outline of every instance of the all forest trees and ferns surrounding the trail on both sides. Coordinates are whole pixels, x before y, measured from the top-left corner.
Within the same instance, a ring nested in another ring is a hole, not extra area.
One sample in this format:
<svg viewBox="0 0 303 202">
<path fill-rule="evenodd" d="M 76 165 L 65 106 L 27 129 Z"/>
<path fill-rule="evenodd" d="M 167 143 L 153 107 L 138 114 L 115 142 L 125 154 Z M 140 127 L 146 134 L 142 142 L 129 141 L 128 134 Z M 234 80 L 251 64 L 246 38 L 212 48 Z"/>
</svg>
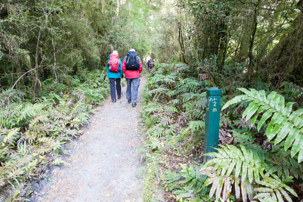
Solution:
<svg viewBox="0 0 303 202">
<path fill-rule="evenodd" d="M 135 48 L 160 62 L 143 98 L 145 201 L 302 200 L 302 3 L 1 1 L 2 197 L 26 200 L 30 181 L 64 163 L 62 145 L 108 94 L 108 55 Z M 212 86 L 222 111 L 210 167 Z"/>
</svg>

